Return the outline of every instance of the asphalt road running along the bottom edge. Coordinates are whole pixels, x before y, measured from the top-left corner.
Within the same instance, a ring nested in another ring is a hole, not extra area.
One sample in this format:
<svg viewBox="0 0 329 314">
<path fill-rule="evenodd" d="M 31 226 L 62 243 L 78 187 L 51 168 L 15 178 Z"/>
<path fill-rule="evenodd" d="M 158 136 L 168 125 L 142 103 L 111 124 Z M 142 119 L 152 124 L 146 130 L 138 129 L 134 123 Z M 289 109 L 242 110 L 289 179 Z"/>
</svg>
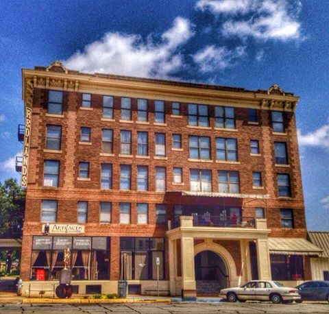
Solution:
<svg viewBox="0 0 329 314">
<path fill-rule="evenodd" d="M 0 304 L 0 313 L 8 314 L 105 314 L 105 313 L 329 313 L 328 302 L 302 304 L 271 303 L 134 303 L 134 304 Z"/>
</svg>

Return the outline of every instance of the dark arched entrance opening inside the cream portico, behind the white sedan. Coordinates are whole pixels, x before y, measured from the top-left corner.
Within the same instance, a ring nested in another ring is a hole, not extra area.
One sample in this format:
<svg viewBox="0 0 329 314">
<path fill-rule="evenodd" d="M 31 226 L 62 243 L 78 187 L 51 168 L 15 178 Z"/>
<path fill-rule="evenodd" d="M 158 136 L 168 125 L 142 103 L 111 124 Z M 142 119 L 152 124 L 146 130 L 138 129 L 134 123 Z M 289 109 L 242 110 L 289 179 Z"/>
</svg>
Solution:
<svg viewBox="0 0 329 314">
<path fill-rule="evenodd" d="M 218 295 L 221 289 L 228 287 L 228 267 L 219 254 L 210 250 L 199 252 L 194 263 L 199 295 Z"/>
</svg>

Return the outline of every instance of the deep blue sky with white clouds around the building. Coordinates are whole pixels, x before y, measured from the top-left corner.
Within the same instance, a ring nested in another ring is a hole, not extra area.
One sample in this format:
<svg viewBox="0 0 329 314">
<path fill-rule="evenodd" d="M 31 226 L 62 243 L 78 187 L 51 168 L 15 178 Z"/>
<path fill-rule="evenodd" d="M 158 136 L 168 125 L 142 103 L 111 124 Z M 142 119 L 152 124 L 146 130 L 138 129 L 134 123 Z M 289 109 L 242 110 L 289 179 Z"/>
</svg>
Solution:
<svg viewBox="0 0 329 314">
<path fill-rule="evenodd" d="M 14 172 L 21 68 L 69 69 L 267 89 L 300 96 L 309 230 L 329 230 L 329 1 L 0 2 L 0 181 Z"/>
</svg>

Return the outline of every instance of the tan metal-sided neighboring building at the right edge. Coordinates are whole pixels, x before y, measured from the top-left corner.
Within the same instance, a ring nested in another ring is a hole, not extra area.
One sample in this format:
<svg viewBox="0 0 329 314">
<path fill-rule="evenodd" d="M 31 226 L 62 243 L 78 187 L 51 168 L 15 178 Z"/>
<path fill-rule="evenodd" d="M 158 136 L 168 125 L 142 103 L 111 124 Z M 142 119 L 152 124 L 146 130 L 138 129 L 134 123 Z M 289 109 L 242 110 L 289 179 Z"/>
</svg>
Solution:
<svg viewBox="0 0 329 314">
<path fill-rule="evenodd" d="M 308 239 L 323 251 L 319 257 L 310 258 L 312 279 L 329 281 L 329 232 L 308 231 Z"/>
</svg>

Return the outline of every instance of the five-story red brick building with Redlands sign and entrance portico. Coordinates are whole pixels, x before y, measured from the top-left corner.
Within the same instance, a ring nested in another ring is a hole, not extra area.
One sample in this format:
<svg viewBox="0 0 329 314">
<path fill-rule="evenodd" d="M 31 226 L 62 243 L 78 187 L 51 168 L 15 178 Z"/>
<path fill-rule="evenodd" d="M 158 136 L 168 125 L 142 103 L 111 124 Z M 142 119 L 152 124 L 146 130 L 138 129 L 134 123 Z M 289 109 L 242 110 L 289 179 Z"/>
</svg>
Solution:
<svg viewBox="0 0 329 314">
<path fill-rule="evenodd" d="M 59 278 L 64 247 L 79 293 L 310 279 L 293 93 L 53 62 L 23 69 L 23 99 L 25 289 Z"/>
</svg>

